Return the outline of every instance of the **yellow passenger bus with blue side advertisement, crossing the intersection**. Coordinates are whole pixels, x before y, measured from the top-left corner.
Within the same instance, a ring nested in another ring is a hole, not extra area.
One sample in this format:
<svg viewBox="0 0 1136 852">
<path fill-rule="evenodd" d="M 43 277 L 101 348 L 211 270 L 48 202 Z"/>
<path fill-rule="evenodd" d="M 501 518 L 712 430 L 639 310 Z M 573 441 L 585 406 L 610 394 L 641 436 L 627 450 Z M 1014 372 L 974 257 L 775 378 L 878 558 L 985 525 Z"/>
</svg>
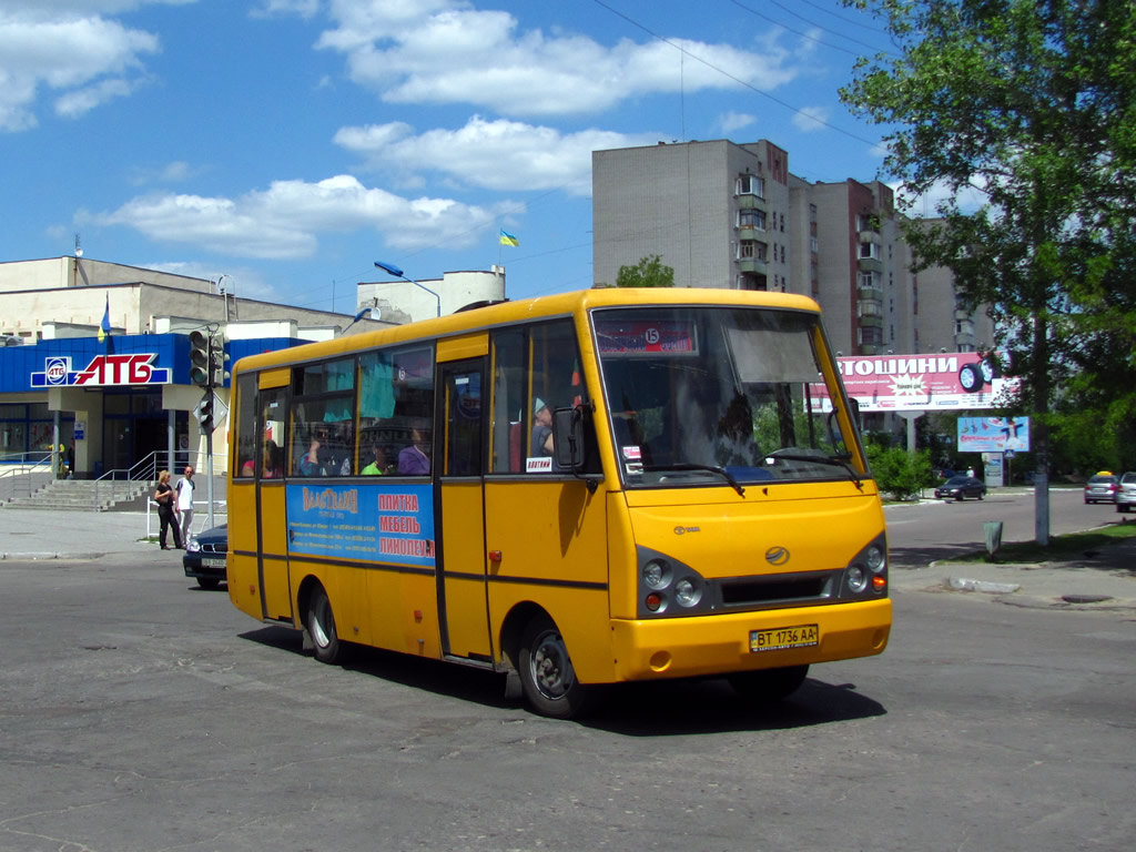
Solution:
<svg viewBox="0 0 1136 852">
<path fill-rule="evenodd" d="M 242 359 L 228 591 L 353 644 L 506 673 L 538 713 L 880 653 L 879 492 L 815 301 L 595 289 Z"/>
</svg>

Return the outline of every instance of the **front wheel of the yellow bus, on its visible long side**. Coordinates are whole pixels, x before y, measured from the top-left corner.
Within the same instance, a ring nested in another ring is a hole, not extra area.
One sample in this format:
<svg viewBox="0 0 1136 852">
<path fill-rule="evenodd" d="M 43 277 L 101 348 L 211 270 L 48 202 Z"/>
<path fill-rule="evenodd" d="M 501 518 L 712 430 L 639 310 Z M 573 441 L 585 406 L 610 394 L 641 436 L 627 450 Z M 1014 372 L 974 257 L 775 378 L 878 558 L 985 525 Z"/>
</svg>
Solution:
<svg viewBox="0 0 1136 852">
<path fill-rule="evenodd" d="M 525 627 L 517 662 L 521 690 L 534 711 L 571 719 L 584 710 L 592 688 L 576 679 L 560 629 L 543 612 Z"/>
</svg>

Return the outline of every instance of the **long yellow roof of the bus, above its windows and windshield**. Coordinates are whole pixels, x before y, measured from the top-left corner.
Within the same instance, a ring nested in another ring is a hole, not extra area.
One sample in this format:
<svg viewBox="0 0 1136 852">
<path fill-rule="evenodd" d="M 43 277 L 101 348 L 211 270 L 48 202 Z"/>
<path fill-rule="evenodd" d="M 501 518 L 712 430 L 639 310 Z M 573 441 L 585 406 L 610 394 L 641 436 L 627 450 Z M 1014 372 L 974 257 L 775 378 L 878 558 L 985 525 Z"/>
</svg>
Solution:
<svg viewBox="0 0 1136 852">
<path fill-rule="evenodd" d="M 675 304 L 691 307 L 734 304 L 820 312 L 820 306 L 815 300 L 792 293 L 713 287 L 595 287 L 534 299 L 499 302 L 436 319 L 423 319 L 392 328 L 349 334 L 329 341 L 249 356 L 236 362 L 234 373 L 320 360 L 337 354 L 349 354 L 360 350 L 423 339 L 460 336 L 515 323 L 571 316 L 592 308 L 620 306 L 644 308 Z"/>
</svg>

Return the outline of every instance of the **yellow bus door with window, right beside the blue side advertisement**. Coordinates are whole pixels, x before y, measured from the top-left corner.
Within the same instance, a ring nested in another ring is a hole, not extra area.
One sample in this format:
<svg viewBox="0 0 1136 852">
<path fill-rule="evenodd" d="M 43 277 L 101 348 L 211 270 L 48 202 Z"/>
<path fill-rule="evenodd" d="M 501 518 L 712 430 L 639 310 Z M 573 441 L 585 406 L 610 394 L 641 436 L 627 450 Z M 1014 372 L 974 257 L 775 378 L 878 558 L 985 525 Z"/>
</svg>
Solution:
<svg viewBox="0 0 1136 852">
<path fill-rule="evenodd" d="M 434 495 L 441 531 L 436 565 L 442 652 L 490 661 L 482 483 L 486 359 L 442 362 L 443 354 L 440 345 Z"/>
</svg>

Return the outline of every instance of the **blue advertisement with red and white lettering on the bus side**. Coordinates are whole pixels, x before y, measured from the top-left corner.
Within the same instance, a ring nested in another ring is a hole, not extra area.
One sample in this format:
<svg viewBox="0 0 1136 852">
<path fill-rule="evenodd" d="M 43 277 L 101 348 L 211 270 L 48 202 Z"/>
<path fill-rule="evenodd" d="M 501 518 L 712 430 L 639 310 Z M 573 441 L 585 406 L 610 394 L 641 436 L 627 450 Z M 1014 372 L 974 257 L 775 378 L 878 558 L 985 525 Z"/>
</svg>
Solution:
<svg viewBox="0 0 1136 852">
<path fill-rule="evenodd" d="M 289 485 L 289 556 L 434 568 L 428 483 Z"/>
</svg>

